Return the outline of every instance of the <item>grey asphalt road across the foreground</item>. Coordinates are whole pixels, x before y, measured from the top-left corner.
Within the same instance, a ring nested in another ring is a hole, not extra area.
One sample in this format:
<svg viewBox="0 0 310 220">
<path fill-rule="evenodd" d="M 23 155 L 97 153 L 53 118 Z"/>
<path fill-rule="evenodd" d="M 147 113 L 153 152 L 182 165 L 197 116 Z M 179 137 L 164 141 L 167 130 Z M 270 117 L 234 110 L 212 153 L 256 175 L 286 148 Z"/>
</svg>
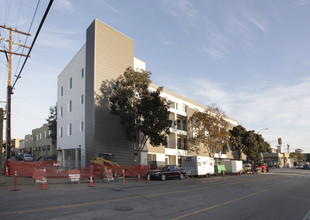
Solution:
<svg viewBox="0 0 310 220">
<path fill-rule="evenodd" d="M 310 171 L 122 183 L 0 185 L 0 219 L 310 219 Z"/>
</svg>

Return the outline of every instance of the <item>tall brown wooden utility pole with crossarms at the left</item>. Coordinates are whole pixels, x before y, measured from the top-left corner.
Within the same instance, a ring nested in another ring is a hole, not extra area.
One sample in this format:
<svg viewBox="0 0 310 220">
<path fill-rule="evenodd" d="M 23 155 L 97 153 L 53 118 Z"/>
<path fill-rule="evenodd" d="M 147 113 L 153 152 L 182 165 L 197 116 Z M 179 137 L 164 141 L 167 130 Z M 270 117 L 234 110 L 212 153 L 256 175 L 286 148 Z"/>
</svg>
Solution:
<svg viewBox="0 0 310 220">
<path fill-rule="evenodd" d="M 19 31 L 17 29 L 13 29 L 11 27 L 6 27 L 5 25 L 0 25 L 0 28 L 9 30 L 9 40 L 1 38 L 0 40 L 6 41 L 9 43 L 9 50 L 0 50 L 0 52 L 5 53 L 7 61 L 8 61 L 8 88 L 7 88 L 7 103 L 6 103 L 6 159 L 10 159 L 11 155 L 11 95 L 13 94 L 12 91 L 12 55 L 18 55 L 18 56 L 27 56 L 25 54 L 19 54 L 12 51 L 12 46 L 18 45 L 20 47 L 28 48 L 25 45 L 22 45 L 20 43 L 16 43 L 13 41 L 13 32 L 18 34 L 24 34 L 27 36 L 31 36 L 29 33 L 25 33 L 22 31 Z"/>
</svg>

